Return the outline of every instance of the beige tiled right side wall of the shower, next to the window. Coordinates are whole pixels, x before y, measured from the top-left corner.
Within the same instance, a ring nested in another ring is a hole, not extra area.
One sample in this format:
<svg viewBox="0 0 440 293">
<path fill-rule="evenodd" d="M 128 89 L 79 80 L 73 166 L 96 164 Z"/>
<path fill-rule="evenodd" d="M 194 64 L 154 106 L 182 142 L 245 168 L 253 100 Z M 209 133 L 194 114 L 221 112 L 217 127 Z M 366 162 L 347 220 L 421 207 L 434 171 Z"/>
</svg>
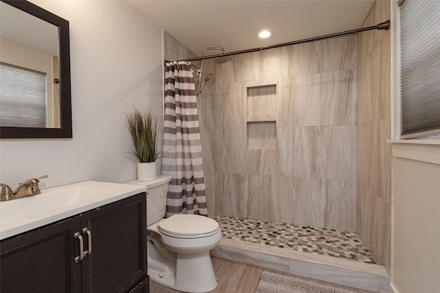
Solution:
<svg viewBox="0 0 440 293">
<path fill-rule="evenodd" d="M 390 19 L 376 1 L 363 27 Z M 358 36 L 358 234 L 391 273 L 391 30 Z"/>
</svg>

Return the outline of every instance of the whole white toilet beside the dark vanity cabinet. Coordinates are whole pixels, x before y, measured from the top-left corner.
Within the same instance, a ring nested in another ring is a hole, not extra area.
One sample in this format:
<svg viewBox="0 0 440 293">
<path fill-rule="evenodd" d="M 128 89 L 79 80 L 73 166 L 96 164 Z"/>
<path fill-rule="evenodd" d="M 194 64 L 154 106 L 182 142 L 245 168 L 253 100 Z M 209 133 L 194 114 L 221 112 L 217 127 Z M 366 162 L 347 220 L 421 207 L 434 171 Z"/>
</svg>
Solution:
<svg viewBox="0 0 440 293">
<path fill-rule="evenodd" d="M 129 184 L 146 185 L 147 266 L 152 281 L 184 292 L 217 287 L 210 250 L 221 240 L 219 224 L 202 215 L 178 214 L 165 219 L 170 176 Z"/>
</svg>

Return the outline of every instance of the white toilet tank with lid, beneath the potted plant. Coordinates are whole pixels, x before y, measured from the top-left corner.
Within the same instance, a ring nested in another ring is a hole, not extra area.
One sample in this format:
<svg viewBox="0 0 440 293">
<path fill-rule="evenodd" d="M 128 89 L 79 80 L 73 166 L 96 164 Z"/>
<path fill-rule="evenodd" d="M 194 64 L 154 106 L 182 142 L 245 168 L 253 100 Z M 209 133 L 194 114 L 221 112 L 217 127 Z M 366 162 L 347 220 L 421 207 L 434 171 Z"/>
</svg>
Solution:
<svg viewBox="0 0 440 293">
<path fill-rule="evenodd" d="M 129 184 L 146 185 L 146 226 L 164 218 L 166 211 L 166 191 L 171 176 L 156 176 L 151 181 L 131 181 Z"/>
</svg>

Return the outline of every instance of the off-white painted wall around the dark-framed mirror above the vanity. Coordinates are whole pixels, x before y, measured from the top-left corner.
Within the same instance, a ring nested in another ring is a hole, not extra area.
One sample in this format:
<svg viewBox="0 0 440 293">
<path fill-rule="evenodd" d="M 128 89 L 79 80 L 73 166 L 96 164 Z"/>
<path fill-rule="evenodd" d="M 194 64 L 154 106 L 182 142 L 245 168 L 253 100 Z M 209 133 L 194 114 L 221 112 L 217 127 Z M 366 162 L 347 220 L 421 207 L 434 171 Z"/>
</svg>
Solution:
<svg viewBox="0 0 440 293">
<path fill-rule="evenodd" d="M 32 2 L 69 21 L 73 139 L 1 139 L 0 182 L 134 180 L 125 115 L 150 106 L 162 120 L 162 30 L 124 1 Z"/>
</svg>

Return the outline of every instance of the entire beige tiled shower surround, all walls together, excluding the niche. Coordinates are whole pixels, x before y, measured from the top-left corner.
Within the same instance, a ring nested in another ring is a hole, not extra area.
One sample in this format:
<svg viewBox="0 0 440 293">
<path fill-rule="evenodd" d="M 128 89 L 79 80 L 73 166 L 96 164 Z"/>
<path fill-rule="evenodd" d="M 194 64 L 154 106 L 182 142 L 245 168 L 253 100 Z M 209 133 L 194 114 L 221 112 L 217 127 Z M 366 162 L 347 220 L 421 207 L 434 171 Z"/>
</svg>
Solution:
<svg viewBox="0 0 440 293">
<path fill-rule="evenodd" d="M 363 26 L 387 19 L 389 1 L 377 1 Z M 357 40 L 232 56 L 223 65 L 204 62 L 204 76 L 214 73 L 198 97 L 211 218 L 236 215 L 358 231 L 375 261 L 391 272 L 389 34 L 375 30 Z M 164 56 L 194 54 L 165 32 Z M 351 79 L 333 82 L 338 76 Z M 277 149 L 250 150 L 245 86 L 274 83 Z"/>
</svg>

